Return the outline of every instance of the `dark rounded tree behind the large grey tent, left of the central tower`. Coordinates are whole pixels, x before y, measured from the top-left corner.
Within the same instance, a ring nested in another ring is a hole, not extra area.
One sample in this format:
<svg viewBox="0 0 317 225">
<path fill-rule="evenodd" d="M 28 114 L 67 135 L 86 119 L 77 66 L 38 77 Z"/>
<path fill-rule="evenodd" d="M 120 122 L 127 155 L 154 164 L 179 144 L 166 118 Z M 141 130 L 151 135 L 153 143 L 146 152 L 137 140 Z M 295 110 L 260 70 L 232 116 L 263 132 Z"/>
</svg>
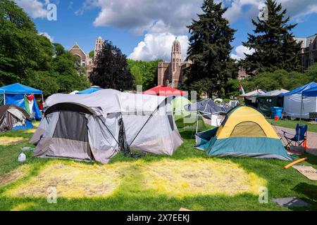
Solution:
<svg viewBox="0 0 317 225">
<path fill-rule="evenodd" d="M 134 77 L 128 70 L 127 56 L 111 41 L 104 41 L 101 51 L 94 58 L 95 68 L 89 76 L 93 85 L 124 91 L 131 89 Z"/>
</svg>

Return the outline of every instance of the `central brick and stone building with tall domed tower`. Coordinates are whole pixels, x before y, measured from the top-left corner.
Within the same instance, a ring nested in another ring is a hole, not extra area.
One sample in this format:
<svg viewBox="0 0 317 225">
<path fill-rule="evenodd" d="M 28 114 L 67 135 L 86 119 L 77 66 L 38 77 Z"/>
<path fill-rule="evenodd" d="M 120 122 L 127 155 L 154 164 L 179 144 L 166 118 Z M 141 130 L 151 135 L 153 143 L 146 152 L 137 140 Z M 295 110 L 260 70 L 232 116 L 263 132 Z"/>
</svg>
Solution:
<svg viewBox="0 0 317 225">
<path fill-rule="evenodd" d="M 180 41 L 173 41 L 170 62 L 160 62 L 158 66 L 158 85 L 178 88 L 182 84 L 182 75 L 186 68 L 192 64 L 191 60 L 182 61 Z"/>
</svg>

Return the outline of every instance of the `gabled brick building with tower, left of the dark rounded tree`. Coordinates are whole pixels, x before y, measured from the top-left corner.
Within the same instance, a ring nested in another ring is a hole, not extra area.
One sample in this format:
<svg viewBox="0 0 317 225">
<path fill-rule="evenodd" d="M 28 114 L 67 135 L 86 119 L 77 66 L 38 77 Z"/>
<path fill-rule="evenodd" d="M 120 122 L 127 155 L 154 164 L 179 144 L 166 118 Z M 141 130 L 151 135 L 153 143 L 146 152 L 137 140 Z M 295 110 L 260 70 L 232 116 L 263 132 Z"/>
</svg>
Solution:
<svg viewBox="0 0 317 225">
<path fill-rule="evenodd" d="M 101 37 L 98 37 L 94 46 L 94 56 L 97 56 L 98 51 L 102 49 L 102 44 L 104 44 L 104 40 Z M 80 58 L 80 65 L 87 68 L 86 75 L 89 77 L 90 72 L 92 72 L 92 68 L 94 68 L 94 58 L 90 58 L 89 53 L 86 54 L 82 51 L 77 42 L 75 42 L 74 46 L 70 49 L 70 52 Z"/>
</svg>

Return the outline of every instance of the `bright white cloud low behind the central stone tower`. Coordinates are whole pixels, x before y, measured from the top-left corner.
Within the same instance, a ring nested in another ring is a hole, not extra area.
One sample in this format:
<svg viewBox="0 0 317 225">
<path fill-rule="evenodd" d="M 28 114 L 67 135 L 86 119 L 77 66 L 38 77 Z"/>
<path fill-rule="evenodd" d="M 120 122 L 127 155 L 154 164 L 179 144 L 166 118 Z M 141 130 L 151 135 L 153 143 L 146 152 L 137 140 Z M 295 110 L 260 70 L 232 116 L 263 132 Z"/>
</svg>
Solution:
<svg viewBox="0 0 317 225">
<path fill-rule="evenodd" d="M 170 61 L 170 51 L 172 50 L 175 35 L 169 32 L 160 34 L 145 34 L 144 40 L 139 42 L 129 58 L 133 60 L 155 60 L 161 58 Z M 188 48 L 188 37 L 186 35 L 178 36 L 182 51 L 182 58 L 186 58 Z"/>
</svg>

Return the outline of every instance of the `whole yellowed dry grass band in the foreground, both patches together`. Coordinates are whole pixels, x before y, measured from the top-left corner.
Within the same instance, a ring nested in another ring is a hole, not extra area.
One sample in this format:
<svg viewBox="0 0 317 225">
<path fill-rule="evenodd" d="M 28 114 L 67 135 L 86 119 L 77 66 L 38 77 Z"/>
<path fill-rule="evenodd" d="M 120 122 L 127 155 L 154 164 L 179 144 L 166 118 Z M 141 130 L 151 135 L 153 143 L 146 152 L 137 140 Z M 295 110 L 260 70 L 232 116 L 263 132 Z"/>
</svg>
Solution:
<svg viewBox="0 0 317 225">
<path fill-rule="evenodd" d="M 229 160 L 188 159 L 159 162 L 116 162 L 87 165 L 52 161 L 37 176 L 8 190 L 13 197 L 44 197 L 56 188 L 63 198 L 102 198 L 123 188 L 125 194 L 161 194 L 182 198 L 192 195 L 259 193 L 266 181 Z M 120 187 L 120 188 L 119 188 Z M 197 210 L 195 207 L 193 210 Z"/>
</svg>

